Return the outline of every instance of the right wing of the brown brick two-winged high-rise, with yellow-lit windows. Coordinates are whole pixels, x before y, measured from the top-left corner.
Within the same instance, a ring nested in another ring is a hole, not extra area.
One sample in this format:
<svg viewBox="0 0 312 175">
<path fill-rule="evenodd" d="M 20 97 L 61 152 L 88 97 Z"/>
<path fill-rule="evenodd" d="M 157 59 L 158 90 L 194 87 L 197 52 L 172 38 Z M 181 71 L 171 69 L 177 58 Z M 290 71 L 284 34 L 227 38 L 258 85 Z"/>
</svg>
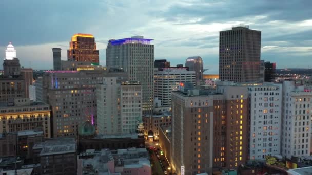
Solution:
<svg viewBox="0 0 312 175">
<path fill-rule="evenodd" d="M 213 97 L 213 166 L 232 169 L 248 159 L 249 100 L 246 87 L 227 83 Z"/>
</svg>

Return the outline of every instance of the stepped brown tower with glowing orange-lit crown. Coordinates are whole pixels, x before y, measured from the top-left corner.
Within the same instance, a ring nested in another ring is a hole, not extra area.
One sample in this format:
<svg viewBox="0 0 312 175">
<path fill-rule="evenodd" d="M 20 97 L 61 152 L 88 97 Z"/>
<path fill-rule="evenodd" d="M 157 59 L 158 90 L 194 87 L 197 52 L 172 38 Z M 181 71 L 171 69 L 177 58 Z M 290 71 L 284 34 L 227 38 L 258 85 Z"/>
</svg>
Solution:
<svg viewBox="0 0 312 175">
<path fill-rule="evenodd" d="M 74 34 L 69 43 L 67 58 L 74 61 L 90 61 L 99 65 L 99 50 L 96 50 L 94 36 L 83 33 Z"/>
</svg>

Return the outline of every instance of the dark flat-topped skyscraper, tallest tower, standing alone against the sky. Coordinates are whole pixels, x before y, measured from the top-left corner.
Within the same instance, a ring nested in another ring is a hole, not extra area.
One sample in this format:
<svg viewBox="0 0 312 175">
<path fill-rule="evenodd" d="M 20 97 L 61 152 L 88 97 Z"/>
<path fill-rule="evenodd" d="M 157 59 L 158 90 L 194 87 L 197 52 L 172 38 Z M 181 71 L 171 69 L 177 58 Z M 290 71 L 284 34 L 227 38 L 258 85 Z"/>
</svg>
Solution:
<svg viewBox="0 0 312 175">
<path fill-rule="evenodd" d="M 220 32 L 219 75 L 221 80 L 259 82 L 261 31 L 234 26 Z"/>
</svg>

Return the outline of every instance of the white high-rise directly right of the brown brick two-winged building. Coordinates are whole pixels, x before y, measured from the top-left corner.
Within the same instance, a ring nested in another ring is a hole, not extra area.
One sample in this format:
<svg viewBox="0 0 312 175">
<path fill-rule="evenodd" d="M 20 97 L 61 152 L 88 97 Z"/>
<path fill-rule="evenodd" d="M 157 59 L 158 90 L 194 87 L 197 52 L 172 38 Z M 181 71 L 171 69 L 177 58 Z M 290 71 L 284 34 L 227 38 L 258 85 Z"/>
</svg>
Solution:
<svg viewBox="0 0 312 175">
<path fill-rule="evenodd" d="M 248 86 L 249 159 L 281 154 L 282 84 Z"/>
</svg>

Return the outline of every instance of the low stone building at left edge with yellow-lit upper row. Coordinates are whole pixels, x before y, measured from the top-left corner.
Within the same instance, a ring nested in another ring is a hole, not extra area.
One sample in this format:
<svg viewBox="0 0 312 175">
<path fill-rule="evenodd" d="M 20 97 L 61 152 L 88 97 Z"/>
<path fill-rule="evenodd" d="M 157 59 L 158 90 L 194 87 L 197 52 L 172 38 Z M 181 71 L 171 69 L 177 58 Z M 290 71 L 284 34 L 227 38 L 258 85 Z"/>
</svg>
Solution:
<svg viewBox="0 0 312 175">
<path fill-rule="evenodd" d="M 0 105 L 1 133 L 23 130 L 43 130 L 44 137 L 51 137 L 50 106 L 42 102 L 30 102 L 16 98 L 13 103 Z"/>
</svg>

